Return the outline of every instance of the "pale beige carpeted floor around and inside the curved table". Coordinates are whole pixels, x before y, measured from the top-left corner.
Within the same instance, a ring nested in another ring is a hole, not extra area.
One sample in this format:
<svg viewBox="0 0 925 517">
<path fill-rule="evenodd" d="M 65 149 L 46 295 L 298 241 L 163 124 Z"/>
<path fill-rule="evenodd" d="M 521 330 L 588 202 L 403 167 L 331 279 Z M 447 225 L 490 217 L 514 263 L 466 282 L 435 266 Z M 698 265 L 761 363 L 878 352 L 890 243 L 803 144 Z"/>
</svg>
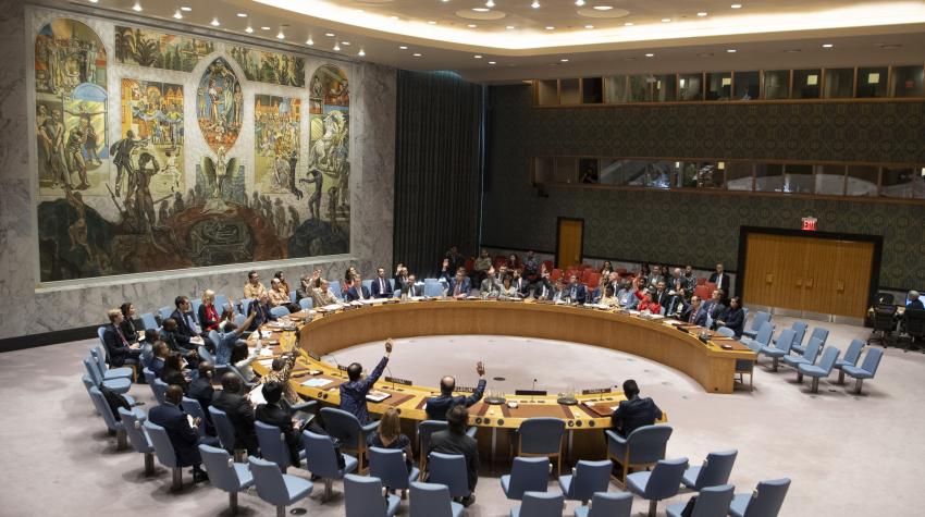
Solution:
<svg viewBox="0 0 925 517">
<path fill-rule="evenodd" d="M 792 320 L 775 317 L 778 329 Z M 844 350 L 853 337 L 866 338 L 869 330 L 827 323 L 829 345 Z M 811 323 L 811 328 L 813 324 Z M 152 478 L 143 475 L 143 458 L 126 450 L 115 451 L 115 439 L 92 410 L 81 383 L 81 357 L 94 341 L 83 341 L 0 355 L 0 440 L 4 461 L 0 515 L 225 515 L 227 497 L 208 484 L 169 491 L 170 475 L 163 468 Z M 538 353 L 539 350 L 539 353 Z M 529 352 L 525 353 L 525 352 Z M 360 345 L 337 354 L 345 364 L 359 360 L 372 366 L 382 353 L 381 343 Z M 551 393 L 568 387 L 600 386 L 639 381 L 670 416 L 675 432 L 668 456 L 686 456 L 700 465 L 706 453 L 735 447 L 739 457 L 730 482 L 737 492 L 750 492 L 762 479 L 793 480 L 781 515 L 917 515 L 922 501 L 918 482 L 925 477 L 925 395 L 922 382 L 925 355 L 887 350 L 877 378 L 865 384 L 864 394 L 852 385 L 821 384 L 819 394 L 800 386 L 787 368 L 773 373 L 766 366 L 755 371 L 755 391 L 711 395 L 687 376 L 659 364 L 625 354 L 568 343 L 498 336 L 419 337 L 396 344 L 390 365 L 394 377 L 421 384 L 436 384 L 444 373 L 457 376 L 459 384 L 473 384 L 474 362 L 484 360 L 490 389 L 513 391 L 536 387 Z M 769 361 L 767 361 L 769 365 Z M 132 395 L 152 404 L 147 385 L 133 386 Z M 308 476 L 299 469 L 291 473 Z M 477 489 L 477 502 L 465 515 L 507 515 L 497 472 L 485 466 Z M 189 481 L 189 476 L 185 480 Z M 344 515 L 342 485 L 338 495 L 322 505 L 321 483 L 310 501 L 295 507 L 311 516 Z M 557 491 L 551 482 L 550 490 Z M 616 487 L 610 490 L 617 490 Z M 667 501 L 683 501 L 689 494 Z M 242 515 L 272 515 L 273 508 L 255 493 L 240 496 Z M 571 515 L 569 503 L 565 515 Z M 664 515 L 665 503 L 659 504 Z M 648 504 L 637 497 L 634 513 Z M 400 515 L 407 515 L 403 503 Z"/>
</svg>

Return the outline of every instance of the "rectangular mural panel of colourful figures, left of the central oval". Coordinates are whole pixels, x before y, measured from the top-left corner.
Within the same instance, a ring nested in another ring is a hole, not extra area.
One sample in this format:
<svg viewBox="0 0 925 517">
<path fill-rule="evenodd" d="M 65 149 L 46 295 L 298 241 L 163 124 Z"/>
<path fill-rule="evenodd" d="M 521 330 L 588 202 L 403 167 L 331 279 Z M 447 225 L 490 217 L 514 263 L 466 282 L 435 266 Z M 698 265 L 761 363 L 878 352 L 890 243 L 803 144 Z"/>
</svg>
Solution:
<svg viewBox="0 0 925 517">
<path fill-rule="evenodd" d="M 120 161 L 128 160 L 132 169 L 137 170 L 140 152 L 136 150 L 144 148 L 159 164 L 160 173 L 151 179 L 152 195 L 172 197 L 177 192 L 184 192 L 182 85 L 123 78 L 120 134 L 132 141 L 128 155 L 120 156 Z M 124 145 L 113 146 L 113 152 L 124 152 Z M 119 167 L 119 163 L 116 165 L 114 190 L 119 195 L 126 168 Z M 128 182 L 125 182 L 125 195 L 128 197 L 132 188 Z"/>
</svg>

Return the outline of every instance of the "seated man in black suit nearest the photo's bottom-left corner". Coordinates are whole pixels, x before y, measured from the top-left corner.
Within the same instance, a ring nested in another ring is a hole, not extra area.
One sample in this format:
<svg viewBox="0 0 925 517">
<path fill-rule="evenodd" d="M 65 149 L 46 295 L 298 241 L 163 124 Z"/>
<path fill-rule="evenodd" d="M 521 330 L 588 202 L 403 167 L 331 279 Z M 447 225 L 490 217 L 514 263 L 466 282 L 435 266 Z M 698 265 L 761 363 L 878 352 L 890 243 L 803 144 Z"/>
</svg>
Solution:
<svg viewBox="0 0 925 517">
<path fill-rule="evenodd" d="M 218 445 L 218 443 L 211 436 L 199 436 L 199 432 L 196 430 L 199 422 L 194 420 L 194 426 L 189 424 L 189 416 L 180 408 L 181 401 L 183 401 L 183 390 L 177 385 L 169 386 L 164 395 L 164 403 L 148 411 L 148 421 L 164 428 L 170 443 L 173 445 L 173 451 L 176 453 L 177 464 L 184 467 L 193 466 L 193 482 L 208 481 L 209 476 L 201 467 L 202 458 L 199 455 L 199 444 Z"/>
</svg>

